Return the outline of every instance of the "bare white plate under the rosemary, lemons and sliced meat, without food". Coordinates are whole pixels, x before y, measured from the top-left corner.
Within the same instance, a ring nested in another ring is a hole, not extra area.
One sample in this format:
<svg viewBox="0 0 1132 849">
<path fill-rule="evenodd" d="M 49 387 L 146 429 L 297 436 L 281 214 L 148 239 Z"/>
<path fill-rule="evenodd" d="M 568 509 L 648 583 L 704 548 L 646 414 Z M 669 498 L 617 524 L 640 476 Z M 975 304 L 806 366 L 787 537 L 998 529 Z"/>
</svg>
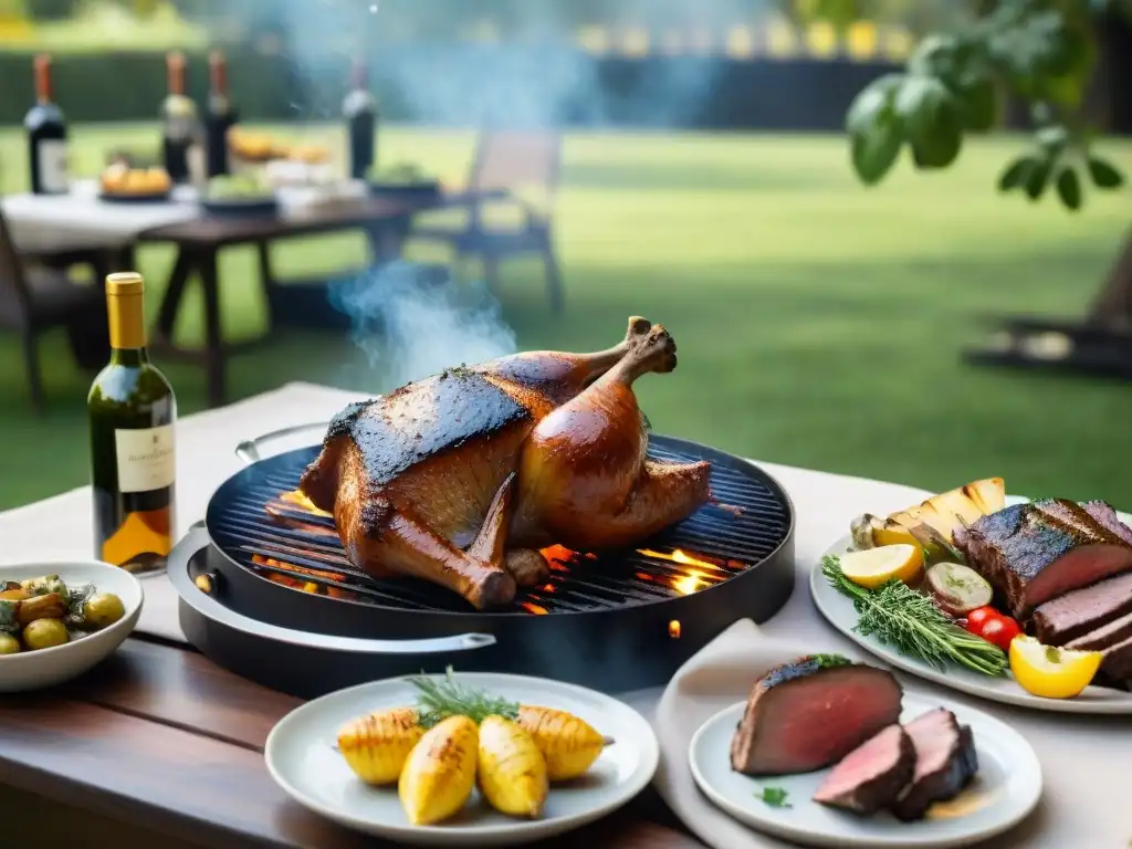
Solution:
<svg viewBox="0 0 1132 849">
<path fill-rule="evenodd" d="M 1007 497 L 1007 504 L 1024 501 L 1024 498 Z M 1122 522 L 1132 524 L 1132 516 L 1118 514 Z M 846 534 L 825 550 L 825 555 L 840 555 L 852 549 L 852 538 Z M 974 696 L 989 698 L 994 702 L 1015 704 L 1021 707 L 1034 707 L 1043 711 L 1061 713 L 1118 713 L 1132 714 L 1132 693 L 1122 693 L 1109 687 L 1086 687 L 1075 698 L 1045 698 L 1027 693 L 1014 681 L 1007 671 L 1005 677 L 990 678 L 960 666 L 951 664 L 944 670 L 935 669 L 918 658 L 900 654 L 882 643 L 875 636 L 863 637 L 854 631 L 857 625 L 857 611 L 852 601 L 830 586 L 822 574 L 821 560 L 814 564 L 809 573 L 809 592 L 814 604 L 834 628 L 858 645 L 882 658 L 906 672 L 918 675 L 945 687 L 970 693 Z"/>
</svg>

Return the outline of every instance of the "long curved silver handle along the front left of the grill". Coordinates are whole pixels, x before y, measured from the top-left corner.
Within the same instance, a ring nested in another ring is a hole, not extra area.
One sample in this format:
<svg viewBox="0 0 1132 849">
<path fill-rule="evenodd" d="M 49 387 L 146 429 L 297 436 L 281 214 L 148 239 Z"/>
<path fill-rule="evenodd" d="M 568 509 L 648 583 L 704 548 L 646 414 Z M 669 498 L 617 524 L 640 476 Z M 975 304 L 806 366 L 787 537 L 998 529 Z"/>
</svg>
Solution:
<svg viewBox="0 0 1132 849">
<path fill-rule="evenodd" d="M 189 529 L 185 539 L 178 543 L 178 548 L 183 546 L 185 551 L 196 552 L 208 544 L 211 544 L 211 540 L 207 529 L 204 525 L 195 525 Z M 252 636 L 277 640 L 281 643 L 298 645 L 303 649 L 324 649 L 357 654 L 447 654 L 486 649 L 496 644 L 496 638 L 491 634 L 454 634 L 445 637 L 423 637 L 419 640 L 362 640 L 333 634 L 312 634 L 306 631 L 269 625 L 225 607 L 200 590 L 189 577 L 190 558 L 191 554 L 186 556 L 183 564 L 180 561 L 175 565 L 171 563 L 171 568 L 166 571 L 169 580 L 181 597 L 181 601 L 209 619 Z"/>
</svg>

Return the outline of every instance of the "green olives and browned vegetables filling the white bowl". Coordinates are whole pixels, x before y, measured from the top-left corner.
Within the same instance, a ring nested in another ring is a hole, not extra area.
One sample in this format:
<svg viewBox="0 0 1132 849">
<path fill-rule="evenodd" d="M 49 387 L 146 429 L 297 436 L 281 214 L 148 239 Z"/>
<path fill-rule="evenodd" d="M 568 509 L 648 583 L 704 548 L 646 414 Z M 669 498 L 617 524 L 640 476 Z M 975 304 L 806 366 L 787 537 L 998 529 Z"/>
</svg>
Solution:
<svg viewBox="0 0 1132 849">
<path fill-rule="evenodd" d="M 52 649 L 113 625 L 122 600 L 94 584 L 66 584 L 58 575 L 0 582 L 0 654 Z"/>
</svg>

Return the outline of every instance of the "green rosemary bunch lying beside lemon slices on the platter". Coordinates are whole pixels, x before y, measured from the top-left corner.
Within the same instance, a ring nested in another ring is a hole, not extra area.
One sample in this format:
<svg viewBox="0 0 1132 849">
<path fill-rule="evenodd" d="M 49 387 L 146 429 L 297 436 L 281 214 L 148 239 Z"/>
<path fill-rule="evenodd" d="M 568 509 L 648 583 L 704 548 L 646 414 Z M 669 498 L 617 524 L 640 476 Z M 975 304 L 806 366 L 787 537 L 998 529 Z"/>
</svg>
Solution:
<svg viewBox="0 0 1132 849">
<path fill-rule="evenodd" d="M 935 606 L 927 595 L 893 578 L 876 590 L 855 584 L 841 571 L 835 555 L 822 558 L 822 574 L 838 592 L 852 599 L 861 636 L 875 635 L 901 654 L 919 658 L 943 670 L 947 661 L 983 675 L 1006 671 L 1005 652 L 994 643 L 970 634 Z"/>
</svg>

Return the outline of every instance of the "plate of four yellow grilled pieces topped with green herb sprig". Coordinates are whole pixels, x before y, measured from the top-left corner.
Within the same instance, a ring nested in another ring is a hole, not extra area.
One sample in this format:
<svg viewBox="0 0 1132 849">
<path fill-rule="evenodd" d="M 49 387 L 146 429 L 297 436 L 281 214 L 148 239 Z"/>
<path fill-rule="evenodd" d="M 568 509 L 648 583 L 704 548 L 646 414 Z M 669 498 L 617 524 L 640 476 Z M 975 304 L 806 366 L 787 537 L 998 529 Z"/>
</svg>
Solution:
<svg viewBox="0 0 1132 849">
<path fill-rule="evenodd" d="M 307 807 L 388 839 L 490 846 L 549 837 L 649 782 L 648 722 L 601 693 L 495 674 L 421 675 L 310 702 L 272 730 L 273 778 Z"/>
</svg>

